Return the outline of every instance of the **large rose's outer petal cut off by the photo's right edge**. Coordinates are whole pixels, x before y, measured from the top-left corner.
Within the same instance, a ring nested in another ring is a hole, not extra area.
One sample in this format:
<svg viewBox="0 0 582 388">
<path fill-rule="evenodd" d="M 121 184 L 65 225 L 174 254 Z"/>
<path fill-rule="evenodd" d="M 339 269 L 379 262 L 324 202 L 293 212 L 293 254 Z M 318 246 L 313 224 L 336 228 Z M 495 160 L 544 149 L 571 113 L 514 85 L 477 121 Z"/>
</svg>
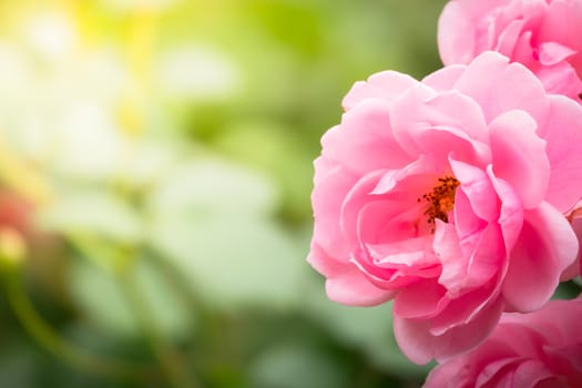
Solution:
<svg viewBox="0 0 582 388">
<path fill-rule="evenodd" d="M 582 193 L 582 108 L 570 99 L 550 96 L 549 118 L 538 134 L 547 141 L 551 167 L 545 201 L 565 213 Z"/>
</svg>

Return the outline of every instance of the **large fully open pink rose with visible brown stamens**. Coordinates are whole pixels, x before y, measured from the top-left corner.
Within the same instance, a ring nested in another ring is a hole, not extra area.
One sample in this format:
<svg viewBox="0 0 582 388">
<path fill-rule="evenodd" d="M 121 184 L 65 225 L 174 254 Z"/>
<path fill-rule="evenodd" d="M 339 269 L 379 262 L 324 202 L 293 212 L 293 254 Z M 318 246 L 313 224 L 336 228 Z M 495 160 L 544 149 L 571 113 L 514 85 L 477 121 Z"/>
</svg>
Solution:
<svg viewBox="0 0 582 388">
<path fill-rule="evenodd" d="M 357 82 L 315 161 L 309 263 L 329 298 L 394 298 L 422 364 L 478 345 L 501 312 L 543 306 L 579 243 L 582 106 L 496 52 L 421 82 Z"/>
</svg>

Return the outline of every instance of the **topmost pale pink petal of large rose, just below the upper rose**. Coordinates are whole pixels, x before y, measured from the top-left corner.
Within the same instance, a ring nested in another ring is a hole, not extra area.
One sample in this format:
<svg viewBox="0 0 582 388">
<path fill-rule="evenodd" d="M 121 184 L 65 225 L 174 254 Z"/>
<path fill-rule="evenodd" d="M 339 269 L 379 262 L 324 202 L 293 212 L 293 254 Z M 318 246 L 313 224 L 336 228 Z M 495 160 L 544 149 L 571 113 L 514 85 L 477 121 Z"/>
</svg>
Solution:
<svg viewBox="0 0 582 388">
<path fill-rule="evenodd" d="M 502 88 L 491 88 L 491 84 Z M 527 111 L 540 122 L 545 118 L 549 104 L 545 91 L 533 73 L 492 51 L 483 52 L 467 67 L 456 89 L 477 101 L 488 122 L 514 109 Z"/>
</svg>

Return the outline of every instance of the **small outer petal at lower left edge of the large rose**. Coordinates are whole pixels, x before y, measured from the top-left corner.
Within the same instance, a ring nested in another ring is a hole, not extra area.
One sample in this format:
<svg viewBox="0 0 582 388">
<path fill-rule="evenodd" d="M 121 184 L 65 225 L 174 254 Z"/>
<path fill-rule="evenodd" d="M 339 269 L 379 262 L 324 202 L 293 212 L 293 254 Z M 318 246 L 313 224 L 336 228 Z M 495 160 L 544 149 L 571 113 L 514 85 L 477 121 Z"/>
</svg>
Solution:
<svg viewBox="0 0 582 388">
<path fill-rule="evenodd" d="M 326 292 L 329 299 L 349 306 L 379 305 L 396 294 L 372 285 L 356 266 L 346 267 L 346 272 L 329 277 Z"/>
</svg>

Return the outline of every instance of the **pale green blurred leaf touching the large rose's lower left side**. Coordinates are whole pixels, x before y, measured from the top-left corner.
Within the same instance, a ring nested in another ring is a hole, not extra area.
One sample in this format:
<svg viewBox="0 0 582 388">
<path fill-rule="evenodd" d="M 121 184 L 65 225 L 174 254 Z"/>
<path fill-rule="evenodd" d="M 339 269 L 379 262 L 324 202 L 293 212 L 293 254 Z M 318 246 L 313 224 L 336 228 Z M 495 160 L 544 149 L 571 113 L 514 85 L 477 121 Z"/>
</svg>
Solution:
<svg viewBox="0 0 582 388">
<path fill-rule="evenodd" d="M 213 307 L 299 303 L 305 254 L 276 224 L 228 215 L 156 227 L 153 244 Z"/>
</svg>

